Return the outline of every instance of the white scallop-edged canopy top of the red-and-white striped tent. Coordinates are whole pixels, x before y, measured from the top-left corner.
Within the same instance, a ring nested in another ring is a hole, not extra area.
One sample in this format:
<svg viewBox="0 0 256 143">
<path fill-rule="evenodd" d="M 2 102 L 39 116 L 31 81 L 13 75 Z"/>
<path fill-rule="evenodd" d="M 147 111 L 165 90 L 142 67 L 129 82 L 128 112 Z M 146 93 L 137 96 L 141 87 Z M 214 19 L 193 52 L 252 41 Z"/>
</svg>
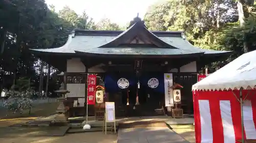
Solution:
<svg viewBox="0 0 256 143">
<path fill-rule="evenodd" d="M 234 90 L 256 85 L 256 50 L 244 53 L 193 85 L 192 90 Z"/>
</svg>

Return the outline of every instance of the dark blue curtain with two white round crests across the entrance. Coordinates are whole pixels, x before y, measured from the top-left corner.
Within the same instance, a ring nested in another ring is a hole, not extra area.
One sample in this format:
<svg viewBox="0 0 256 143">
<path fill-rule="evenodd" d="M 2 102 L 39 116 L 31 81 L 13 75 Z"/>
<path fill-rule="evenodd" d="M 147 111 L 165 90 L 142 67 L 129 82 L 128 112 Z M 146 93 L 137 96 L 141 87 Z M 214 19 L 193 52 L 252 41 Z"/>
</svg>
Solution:
<svg viewBox="0 0 256 143">
<path fill-rule="evenodd" d="M 164 93 L 164 77 L 163 73 L 142 73 L 139 80 L 141 86 L 144 88 L 149 88 L 147 85 L 148 80 L 151 78 L 157 78 L 159 81 L 158 87 L 153 89 L 155 92 Z M 107 92 L 118 92 L 121 89 L 117 85 L 117 81 L 120 78 L 126 78 L 129 80 L 130 86 L 134 86 L 138 82 L 138 78 L 133 73 L 105 73 L 104 82 L 105 89 Z"/>
</svg>

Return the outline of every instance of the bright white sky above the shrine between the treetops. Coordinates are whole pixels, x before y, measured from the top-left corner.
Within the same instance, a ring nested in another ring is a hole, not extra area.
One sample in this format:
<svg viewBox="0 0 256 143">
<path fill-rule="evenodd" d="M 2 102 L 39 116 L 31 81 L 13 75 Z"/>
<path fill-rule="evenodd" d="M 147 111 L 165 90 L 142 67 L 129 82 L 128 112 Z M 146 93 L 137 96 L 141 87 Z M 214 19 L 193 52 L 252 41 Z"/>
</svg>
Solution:
<svg viewBox="0 0 256 143">
<path fill-rule="evenodd" d="M 54 5 L 56 11 L 69 6 L 77 14 L 84 10 L 96 22 L 109 18 L 112 22 L 125 25 L 139 13 L 143 18 L 146 10 L 152 4 L 163 0 L 46 0 L 48 5 Z"/>
</svg>

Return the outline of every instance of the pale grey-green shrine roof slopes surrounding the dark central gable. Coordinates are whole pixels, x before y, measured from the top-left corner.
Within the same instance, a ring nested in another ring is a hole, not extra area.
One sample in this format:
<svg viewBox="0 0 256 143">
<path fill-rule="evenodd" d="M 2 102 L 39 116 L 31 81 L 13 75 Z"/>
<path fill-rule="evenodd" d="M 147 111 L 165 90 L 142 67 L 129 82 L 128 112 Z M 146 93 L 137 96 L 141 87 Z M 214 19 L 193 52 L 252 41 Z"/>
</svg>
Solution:
<svg viewBox="0 0 256 143">
<path fill-rule="evenodd" d="M 69 39 L 65 45 L 59 48 L 49 49 L 32 49 L 41 52 L 54 52 L 54 53 L 75 53 L 88 52 L 88 53 L 99 53 L 99 54 L 122 54 L 125 51 L 127 54 L 188 54 L 188 53 L 199 53 L 204 52 L 205 54 L 211 53 L 224 53 L 227 51 L 216 51 L 201 49 L 190 44 L 187 40 L 182 37 L 159 37 L 162 41 L 177 47 L 178 49 L 170 48 L 140 48 L 140 47 L 113 47 L 113 48 L 98 48 L 105 43 L 110 42 L 116 38 L 116 36 L 69 36 Z"/>
</svg>

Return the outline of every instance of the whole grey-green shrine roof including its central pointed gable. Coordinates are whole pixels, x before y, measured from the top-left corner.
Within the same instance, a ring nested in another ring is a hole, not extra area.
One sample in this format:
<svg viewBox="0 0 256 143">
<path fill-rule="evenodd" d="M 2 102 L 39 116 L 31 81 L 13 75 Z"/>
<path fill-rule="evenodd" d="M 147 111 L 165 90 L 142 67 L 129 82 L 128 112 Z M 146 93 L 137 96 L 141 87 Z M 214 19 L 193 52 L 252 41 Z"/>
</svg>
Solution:
<svg viewBox="0 0 256 143">
<path fill-rule="evenodd" d="M 126 31 L 75 30 L 69 35 L 66 44 L 61 47 L 31 50 L 39 54 L 74 55 L 76 53 L 97 55 L 218 55 L 230 52 L 196 47 L 185 39 L 183 32 L 148 31 L 144 22 L 138 18 Z"/>
</svg>

